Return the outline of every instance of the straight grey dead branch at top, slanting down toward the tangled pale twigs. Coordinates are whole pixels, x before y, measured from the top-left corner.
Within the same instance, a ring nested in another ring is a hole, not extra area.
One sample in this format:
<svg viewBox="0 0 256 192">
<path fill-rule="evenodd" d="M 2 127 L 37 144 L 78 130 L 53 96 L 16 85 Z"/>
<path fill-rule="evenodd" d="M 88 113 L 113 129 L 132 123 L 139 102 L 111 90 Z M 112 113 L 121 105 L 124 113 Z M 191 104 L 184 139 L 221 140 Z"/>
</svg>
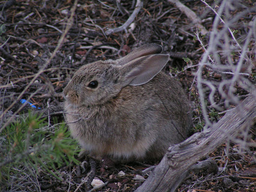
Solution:
<svg viewBox="0 0 256 192">
<path fill-rule="evenodd" d="M 202 21 L 199 17 L 189 9 L 187 6 L 183 5 L 179 0 L 168 0 L 170 3 L 174 4 L 181 12 L 183 12 L 193 23 L 196 24 L 198 28 L 201 29 L 201 34 L 206 35 L 208 33 L 207 29 L 201 24 Z"/>
</svg>

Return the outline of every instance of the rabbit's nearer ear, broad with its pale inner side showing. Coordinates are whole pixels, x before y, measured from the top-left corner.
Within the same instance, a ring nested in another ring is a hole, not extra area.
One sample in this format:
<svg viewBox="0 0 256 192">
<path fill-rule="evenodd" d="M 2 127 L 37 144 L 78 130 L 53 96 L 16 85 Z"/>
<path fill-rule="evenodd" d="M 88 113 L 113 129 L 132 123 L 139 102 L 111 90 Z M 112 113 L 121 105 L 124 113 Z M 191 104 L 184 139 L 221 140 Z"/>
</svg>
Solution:
<svg viewBox="0 0 256 192">
<path fill-rule="evenodd" d="M 126 84 L 146 84 L 160 72 L 169 60 L 169 54 L 155 54 L 137 58 L 122 66 Z"/>
</svg>

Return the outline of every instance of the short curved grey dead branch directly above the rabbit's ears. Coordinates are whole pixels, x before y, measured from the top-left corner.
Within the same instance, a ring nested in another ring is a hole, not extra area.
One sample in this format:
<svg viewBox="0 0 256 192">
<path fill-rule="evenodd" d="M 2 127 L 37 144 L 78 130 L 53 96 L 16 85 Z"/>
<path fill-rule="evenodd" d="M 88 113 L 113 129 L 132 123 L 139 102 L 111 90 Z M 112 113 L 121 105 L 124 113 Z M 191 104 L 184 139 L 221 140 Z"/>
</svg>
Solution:
<svg viewBox="0 0 256 192">
<path fill-rule="evenodd" d="M 143 2 L 141 0 L 137 0 L 134 12 L 131 14 L 131 16 L 128 18 L 128 20 L 122 26 L 113 28 L 113 29 L 109 29 L 108 31 L 106 31 L 106 35 L 108 36 L 112 33 L 117 33 L 117 32 L 126 30 L 126 28 L 134 21 L 136 15 L 139 13 L 142 6 L 143 6 Z"/>
</svg>

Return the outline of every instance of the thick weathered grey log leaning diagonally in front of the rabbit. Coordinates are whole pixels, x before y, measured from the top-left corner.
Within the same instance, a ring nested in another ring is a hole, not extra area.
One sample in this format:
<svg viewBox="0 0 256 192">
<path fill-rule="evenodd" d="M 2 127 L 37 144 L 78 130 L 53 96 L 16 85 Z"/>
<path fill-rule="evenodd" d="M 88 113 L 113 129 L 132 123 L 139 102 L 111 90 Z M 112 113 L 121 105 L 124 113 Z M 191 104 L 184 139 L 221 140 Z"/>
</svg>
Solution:
<svg viewBox="0 0 256 192">
<path fill-rule="evenodd" d="M 200 158 L 213 152 L 229 137 L 256 122 L 256 92 L 207 131 L 195 133 L 181 144 L 173 145 L 148 179 L 135 192 L 174 192 L 188 170 Z"/>
</svg>

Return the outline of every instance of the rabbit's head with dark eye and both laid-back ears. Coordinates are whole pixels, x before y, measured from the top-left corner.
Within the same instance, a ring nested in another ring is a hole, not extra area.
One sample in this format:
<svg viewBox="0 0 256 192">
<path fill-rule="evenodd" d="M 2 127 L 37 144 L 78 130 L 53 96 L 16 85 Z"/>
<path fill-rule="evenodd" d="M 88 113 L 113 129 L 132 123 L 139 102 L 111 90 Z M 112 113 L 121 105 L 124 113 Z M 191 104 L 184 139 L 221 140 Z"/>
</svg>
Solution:
<svg viewBox="0 0 256 192">
<path fill-rule="evenodd" d="M 146 84 L 169 59 L 168 54 L 159 54 L 161 51 L 157 44 L 146 44 L 119 60 L 82 66 L 63 91 L 67 102 L 76 108 L 102 104 L 117 96 L 124 86 Z"/>
</svg>

